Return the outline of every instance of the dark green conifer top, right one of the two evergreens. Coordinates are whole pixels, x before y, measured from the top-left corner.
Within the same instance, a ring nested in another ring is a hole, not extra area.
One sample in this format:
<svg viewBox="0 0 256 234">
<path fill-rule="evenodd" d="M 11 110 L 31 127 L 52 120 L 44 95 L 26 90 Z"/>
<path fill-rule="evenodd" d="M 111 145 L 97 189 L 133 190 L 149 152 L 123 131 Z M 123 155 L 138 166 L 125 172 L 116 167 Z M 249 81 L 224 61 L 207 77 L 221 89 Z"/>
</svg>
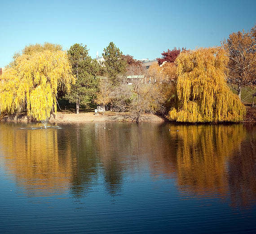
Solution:
<svg viewBox="0 0 256 234">
<path fill-rule="evenodd" d="M 123 53 L 110 42 L 107 48 L 103 49 L 102 56 L 104 58 L 104 66 L 106 68 L 106 75 L 112 85 L 118 85 L 120 82 L 119 76 L 126 71 L 126 61 L 122 59 Z"/>
</svg>

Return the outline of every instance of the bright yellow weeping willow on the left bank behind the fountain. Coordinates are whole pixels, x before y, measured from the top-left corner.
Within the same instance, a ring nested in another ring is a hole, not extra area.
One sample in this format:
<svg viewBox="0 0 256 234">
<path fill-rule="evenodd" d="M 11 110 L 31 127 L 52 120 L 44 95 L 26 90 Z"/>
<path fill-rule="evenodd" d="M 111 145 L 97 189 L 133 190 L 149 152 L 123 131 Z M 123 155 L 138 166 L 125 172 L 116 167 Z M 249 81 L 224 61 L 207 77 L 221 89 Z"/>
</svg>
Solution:
<svg viewBox="0 0 256 234">
<path fill-rule="evenodd" d="M 44 50 L 15 58 L 0 77 L 0 109 L 13 114 L 26 110 L 36 121 L 57 110 L 57 91 L 69 91 L 75 78 L 66 52 Z"/>
</svg>

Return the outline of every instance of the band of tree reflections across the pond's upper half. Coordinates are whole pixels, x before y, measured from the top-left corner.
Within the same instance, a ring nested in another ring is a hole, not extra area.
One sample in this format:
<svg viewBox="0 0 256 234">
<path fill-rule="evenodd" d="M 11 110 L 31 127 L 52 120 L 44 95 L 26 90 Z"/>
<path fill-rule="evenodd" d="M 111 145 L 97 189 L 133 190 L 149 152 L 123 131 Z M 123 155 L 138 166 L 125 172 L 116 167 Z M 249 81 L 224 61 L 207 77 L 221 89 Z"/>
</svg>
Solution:
<svg viewBox="0 0 256 234">
<path fill-rule="evenodd" d="M 117 196 L 128 178 L 137 176 L 174 179 L 184 196 L 229 198 L 233 206 L 255 203 L 255 126 L 61 127 L 26 130 L 0 125 L 0 160 L 28 196 L 70 193 L 79 198 L 102 187 Z"/>
</svg>

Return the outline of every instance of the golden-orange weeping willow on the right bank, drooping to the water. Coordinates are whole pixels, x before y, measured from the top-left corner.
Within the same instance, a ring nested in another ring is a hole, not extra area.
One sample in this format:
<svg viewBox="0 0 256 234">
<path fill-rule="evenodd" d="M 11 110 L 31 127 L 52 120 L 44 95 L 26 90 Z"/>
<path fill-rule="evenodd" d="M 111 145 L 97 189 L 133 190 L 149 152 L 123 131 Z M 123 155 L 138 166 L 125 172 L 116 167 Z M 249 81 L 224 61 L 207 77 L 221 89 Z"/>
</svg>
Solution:
<svg viewBox="0 0 256 234">
<path fill-rule="evenodd" d="M 179 122 L 238 122 L 244 105 L 226 84 L 228 57 L 222 48 L 182 52 L 176 59 L 178 108 L 168 117 Z"/>
</svg>

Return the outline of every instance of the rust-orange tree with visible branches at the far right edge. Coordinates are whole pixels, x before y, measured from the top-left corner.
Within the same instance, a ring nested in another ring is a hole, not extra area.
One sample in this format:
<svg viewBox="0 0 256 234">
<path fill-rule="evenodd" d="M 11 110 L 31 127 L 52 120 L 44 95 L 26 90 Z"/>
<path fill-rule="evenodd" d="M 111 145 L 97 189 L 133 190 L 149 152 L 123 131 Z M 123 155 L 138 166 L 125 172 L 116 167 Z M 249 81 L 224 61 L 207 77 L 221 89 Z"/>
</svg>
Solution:
<svg viewBox="0 0 256 234">
<path fill-rule="evenodd" d="M 256 41 L 252 33 L 238 31 L 230 34 L 227 40 L 222 42 L 228 56 L 228 82 L 238 92 L 241 100 L 241 91 L 244 87 L 256 81 Z"/>
</svg>

